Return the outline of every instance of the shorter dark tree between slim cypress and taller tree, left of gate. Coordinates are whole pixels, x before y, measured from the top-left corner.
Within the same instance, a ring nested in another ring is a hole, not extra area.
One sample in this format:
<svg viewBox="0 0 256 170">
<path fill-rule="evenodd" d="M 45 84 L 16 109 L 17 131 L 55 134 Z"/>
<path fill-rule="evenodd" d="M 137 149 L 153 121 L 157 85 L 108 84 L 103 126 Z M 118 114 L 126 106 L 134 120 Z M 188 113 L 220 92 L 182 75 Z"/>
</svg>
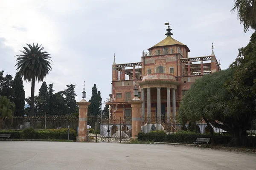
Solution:
<svg viewBox="0 0 256 170">
<path fill-rule="evenodd" d="M 65 103 L 64 91 L 59 91 L 53 95 L 54 98 L 54 114 L 61 115 L 67 113 L 67 105 Z"/>
</svg>

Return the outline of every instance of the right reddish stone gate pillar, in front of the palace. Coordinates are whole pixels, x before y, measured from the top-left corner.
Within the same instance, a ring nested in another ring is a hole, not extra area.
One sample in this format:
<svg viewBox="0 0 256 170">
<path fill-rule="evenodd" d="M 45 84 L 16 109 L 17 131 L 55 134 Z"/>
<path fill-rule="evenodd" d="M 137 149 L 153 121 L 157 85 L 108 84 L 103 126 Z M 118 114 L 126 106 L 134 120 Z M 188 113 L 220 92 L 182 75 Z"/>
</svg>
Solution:
<svg viewBox="0 0 256 170">
<path fill-rule="evenodd" d="M 134 97 L 129 103 L 131 104 L 131 138 L 137 139 L 138 133 L 141 131 L 141 104 L 143 101 Z"/>
</svg>

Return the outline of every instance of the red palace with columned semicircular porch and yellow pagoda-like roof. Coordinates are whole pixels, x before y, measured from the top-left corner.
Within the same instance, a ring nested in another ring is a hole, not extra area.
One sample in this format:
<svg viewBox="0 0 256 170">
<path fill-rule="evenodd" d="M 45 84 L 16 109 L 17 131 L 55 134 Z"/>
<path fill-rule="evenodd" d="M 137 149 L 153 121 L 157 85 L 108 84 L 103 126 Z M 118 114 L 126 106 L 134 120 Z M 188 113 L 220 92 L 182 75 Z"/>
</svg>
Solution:
<svg viewBox="0 0 256 170">
<path fill-rule="evenodd" d="M 175 120 L 182 97 L 196 79 L 221 70 L 212 54 L 189 57 L 189 48 L 172 38 L 166 38 L 142 53 L 141 62 L 112 65 L 112 92 L 106 104 L 111 117 L 131 117 L 133 89 L 137 85 L 142 103 L 142 119 L 147 123 L 171 123 Z"/>
</svg>

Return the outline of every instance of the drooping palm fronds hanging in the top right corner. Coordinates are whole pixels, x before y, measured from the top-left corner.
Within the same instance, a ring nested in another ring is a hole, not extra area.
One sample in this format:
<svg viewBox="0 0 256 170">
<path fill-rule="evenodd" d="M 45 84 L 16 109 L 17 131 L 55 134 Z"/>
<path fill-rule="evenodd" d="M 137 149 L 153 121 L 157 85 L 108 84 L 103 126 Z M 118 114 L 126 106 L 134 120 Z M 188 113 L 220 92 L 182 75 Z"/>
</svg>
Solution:
<svg viewBox="0 0 256 170">
<path fill-rule="evenodd" d="M 244 32 L 249 28 L 256 30 L 256 0 L 235 0 L 231 11 L 237 10 L 237 17 L 244 25 Z"/>
</svg>

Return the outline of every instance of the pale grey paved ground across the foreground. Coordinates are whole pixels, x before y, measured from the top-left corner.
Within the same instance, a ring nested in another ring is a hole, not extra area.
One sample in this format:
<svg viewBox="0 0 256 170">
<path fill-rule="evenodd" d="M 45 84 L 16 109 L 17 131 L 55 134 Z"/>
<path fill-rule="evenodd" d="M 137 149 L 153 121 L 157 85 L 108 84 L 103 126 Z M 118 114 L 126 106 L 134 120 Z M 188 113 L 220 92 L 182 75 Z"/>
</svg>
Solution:
<svg viewBox="0 0 256 170">
<path fill-rule="evenodd" d="M 162 144 L 0 142 L 0 170 L 255 170 L 256 154 Z"/>
</svg>

